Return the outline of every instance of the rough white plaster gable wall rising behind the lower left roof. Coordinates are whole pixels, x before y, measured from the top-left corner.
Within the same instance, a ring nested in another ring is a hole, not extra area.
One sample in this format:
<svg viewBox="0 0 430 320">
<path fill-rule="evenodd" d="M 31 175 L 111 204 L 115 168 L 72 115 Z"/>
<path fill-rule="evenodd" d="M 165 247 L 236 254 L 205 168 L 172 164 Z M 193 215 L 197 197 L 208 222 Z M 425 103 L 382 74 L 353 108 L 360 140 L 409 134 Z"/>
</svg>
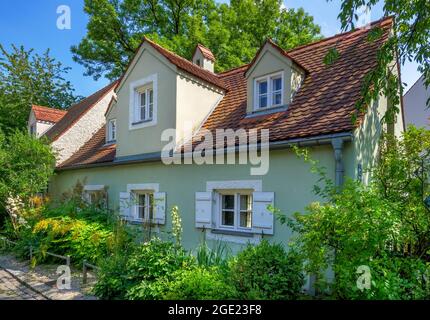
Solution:
<svg viewBox="0 0 430 320">
<path fill-rule="evenodd" d="M 112 98 L 108 92 L 94 107 L 87 111 L 71 128 L 52 143 L 57 151 L 57 165 L 69 159 L 105 124 L 105 112 Z"/>
</svg>

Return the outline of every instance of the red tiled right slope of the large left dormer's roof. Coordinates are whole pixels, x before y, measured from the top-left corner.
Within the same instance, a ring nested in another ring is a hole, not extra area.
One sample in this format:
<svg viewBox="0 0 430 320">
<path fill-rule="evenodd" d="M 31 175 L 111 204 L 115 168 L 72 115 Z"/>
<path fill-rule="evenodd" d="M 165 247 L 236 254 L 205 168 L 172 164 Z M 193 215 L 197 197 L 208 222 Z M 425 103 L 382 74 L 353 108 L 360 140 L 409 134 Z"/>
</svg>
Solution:
<svg viewBox="0 0 430 320">
<path fill-rule="evenodd" d="M 203 69 L 202 67 L 195 65 L 191 61 L 188 61 L 187 59 L 182 58 L 167 49 L 164 49 L 160 45 L 149 40 L 148 38 L 144 38 L 144 41 L 148 42 L 155 50 L 161 53 L 167 60 L 169 60 L 172 64 L 174 64 L 182 71 L 185 71 L 221 89 L 227 89 L 226 84 L 217 74 L 210 72 L 209 70 Z"/>
</svg>

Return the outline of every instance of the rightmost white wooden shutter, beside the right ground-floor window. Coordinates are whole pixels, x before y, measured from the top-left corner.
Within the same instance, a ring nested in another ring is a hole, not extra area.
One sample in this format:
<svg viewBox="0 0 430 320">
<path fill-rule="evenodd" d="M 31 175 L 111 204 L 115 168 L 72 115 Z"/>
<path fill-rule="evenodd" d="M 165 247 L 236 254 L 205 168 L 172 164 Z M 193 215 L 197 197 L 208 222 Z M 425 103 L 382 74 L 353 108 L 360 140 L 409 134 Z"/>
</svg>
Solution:
<svg viewBox="0 0 430 320">
<path fill-rule="evenodd" d="M 274 204 L 274 192 L 254 192 L 252 194 L 252 224 L 257 233 L 273 234 L 273 214 L 267 210 Z"/>
</svg>

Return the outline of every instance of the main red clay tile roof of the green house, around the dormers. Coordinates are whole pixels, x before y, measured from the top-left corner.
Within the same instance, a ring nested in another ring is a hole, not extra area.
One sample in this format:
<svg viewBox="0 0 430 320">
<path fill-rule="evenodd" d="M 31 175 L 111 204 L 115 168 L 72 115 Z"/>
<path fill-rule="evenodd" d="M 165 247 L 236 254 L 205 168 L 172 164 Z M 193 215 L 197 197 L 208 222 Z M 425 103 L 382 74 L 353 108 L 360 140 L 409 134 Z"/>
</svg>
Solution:
<svg viewBox="0 0 430 320">
<path fill-rule="evenodd" d="M 202 128 L 211 131 L 217 128 L 270 129 L 271 141 L 352 132 L 360 123 L 353 123 L 352 115 L 356 111 L 362 80 L 376 64 L 377 50 L 388 38 L 392 18 L 382 19 L 372 26 L 384 30 L 384 35 L 375 42 L 367 40 L 370 30 L 359 29 L 286 51 L 308 70 L 286 111 L 246 117 L 245 73 L 249 65 L 218 74 L 228 91 Z M 334 46 L 340 57 L 326 66 L 323 58 Z M 104 133 L 99 131 L 61 167 L 113 161 L 115 150 L 113 147 L 107 150 L 103 144 Z"/>
</svg>

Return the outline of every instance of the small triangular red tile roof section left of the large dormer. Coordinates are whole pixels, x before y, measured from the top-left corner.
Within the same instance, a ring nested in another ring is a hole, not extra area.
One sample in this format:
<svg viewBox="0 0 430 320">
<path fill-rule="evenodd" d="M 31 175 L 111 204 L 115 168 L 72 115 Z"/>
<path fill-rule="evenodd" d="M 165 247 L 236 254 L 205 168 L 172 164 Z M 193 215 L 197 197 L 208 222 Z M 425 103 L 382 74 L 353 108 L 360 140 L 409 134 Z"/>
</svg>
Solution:
<svg viewBox="0 0 430 320">
<path fill-rule="evenodd" d="M 57 169 L 112 162 L 115 154 L 116 145 L 106 145 L 106 126 L 103 126 L 73 156 L 60 164 Z"/>
</svg>

